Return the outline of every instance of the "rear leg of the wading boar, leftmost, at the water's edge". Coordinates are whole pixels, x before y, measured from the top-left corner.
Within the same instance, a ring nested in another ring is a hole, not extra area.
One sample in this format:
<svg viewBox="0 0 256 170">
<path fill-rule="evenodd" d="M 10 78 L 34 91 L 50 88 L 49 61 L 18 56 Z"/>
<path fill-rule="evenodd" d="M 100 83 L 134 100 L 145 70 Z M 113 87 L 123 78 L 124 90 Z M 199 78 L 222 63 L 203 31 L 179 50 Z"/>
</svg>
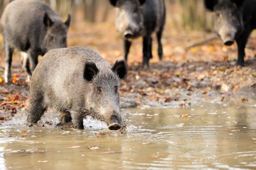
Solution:
<svg viewBox="0 0 256 170">
<path fill-rule="evenodd" d="M 46 108 L 42 105 L 42 100 L 40 100 L 40 98 L 36 101 L 30 100 L 27 122 L 36 123 L 41 118 L 45 110 Z"/>
</svg>

